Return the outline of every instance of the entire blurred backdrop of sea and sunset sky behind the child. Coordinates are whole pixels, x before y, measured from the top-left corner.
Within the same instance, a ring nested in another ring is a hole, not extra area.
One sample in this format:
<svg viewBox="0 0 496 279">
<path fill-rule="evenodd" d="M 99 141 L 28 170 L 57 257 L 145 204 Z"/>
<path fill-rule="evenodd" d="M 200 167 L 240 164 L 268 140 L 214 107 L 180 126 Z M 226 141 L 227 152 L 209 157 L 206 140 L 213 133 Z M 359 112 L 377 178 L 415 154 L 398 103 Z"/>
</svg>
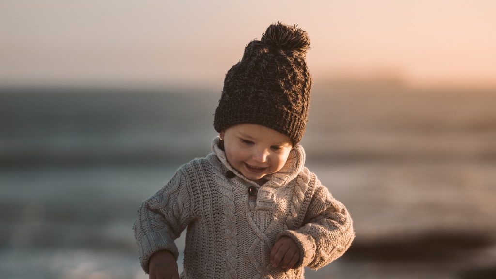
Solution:
<svg viewBox="0 0 496 279">
<path fill-rule="evenodd" d="M 136 210 L 210 151 L 226 71 L 279 20 L 310 35 L 307 165 L 357 232 L 307 278 L 496 278 L 495 12 L 490 0 L 0 1 L 0 277 L 148 278 Z"/>
</svg>

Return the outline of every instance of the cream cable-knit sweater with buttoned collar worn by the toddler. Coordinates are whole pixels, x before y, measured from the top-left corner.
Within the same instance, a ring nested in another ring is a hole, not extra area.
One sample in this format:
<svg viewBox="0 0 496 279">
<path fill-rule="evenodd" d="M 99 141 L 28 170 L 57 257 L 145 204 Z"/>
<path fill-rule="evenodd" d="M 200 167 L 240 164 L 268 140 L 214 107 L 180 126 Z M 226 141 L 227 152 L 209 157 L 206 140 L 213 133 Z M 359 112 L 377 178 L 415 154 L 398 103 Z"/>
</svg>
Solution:
<svg viewBox="0 0 496 279">
<path fill-rule="evenodd" d="M 355 236 L 351 217 L 304 166 L 301 145 L 260 187 L 230 166 L 218 142 L 213 140 L 205 158 L 183 165 L 138 210 L 133 230 L 146 273 L 158 250 L 178 258 L 174 240 L 186 227 L 182 279 L 301 279 L 304 267 L 318 269 L 343 255 Z M 250 186 L 258 188 L 257 196 L 248 194 Z M 295 269 L 270 265 L 281 236 L 300 247 Z"/>
</svg>

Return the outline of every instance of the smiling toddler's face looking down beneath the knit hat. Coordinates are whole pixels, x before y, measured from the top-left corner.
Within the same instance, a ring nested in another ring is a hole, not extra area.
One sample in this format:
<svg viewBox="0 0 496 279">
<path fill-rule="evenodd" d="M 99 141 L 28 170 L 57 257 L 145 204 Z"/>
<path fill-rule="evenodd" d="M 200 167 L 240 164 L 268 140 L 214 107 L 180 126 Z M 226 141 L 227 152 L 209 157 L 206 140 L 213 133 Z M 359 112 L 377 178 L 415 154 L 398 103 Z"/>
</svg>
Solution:
<svg viewBox="0 0 496 279">
<path fill-rule="evenodd" d="M 264 176 L 279 171 L 293 147 L 291 139 L 257 124 L 239 124 L 220 133 L 226 157 L 246 178 L 260 182 Z"/>
</svg>

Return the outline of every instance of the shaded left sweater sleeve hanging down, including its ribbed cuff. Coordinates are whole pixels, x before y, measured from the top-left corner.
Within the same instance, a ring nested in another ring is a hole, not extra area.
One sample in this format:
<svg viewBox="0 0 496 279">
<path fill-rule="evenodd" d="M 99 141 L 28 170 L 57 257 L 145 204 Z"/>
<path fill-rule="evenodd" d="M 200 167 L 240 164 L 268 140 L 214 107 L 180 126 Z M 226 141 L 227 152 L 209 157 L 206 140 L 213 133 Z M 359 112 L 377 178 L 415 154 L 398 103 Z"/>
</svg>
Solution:
<svg viewBox="0 0 496 279">
<path fill-rule="evenodd" d="M 159 250 L 168 250 L 176 260 L 179 252 L 174 240 L 192 218 L 191 199 L 187 177 L 178 170 L 157 193 L 146 199 L 138 210 L 133 231 L 141 267 L 149 272 L 150 256 Z"/>
</svg>

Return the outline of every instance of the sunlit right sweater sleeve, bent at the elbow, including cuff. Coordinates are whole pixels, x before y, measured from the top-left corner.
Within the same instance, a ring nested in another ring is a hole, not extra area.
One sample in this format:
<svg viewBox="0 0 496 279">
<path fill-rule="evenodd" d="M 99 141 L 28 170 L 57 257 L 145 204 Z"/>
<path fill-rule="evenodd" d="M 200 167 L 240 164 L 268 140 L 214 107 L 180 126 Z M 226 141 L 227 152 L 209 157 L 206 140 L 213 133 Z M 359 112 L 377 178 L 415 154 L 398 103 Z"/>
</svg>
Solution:
<svg viewBox="0 0 496 279">
<path fill-rule="evenodd" d="M 278 235 L 278 238 L 291 237 L 300 248 L 300 261 L 294 268 L 304 266 L 317 270 L 324 267 L 341 257 L 355 238 L 348 210 L 318 180 L 315 183 L 304 225 Z"/>
</svg>

